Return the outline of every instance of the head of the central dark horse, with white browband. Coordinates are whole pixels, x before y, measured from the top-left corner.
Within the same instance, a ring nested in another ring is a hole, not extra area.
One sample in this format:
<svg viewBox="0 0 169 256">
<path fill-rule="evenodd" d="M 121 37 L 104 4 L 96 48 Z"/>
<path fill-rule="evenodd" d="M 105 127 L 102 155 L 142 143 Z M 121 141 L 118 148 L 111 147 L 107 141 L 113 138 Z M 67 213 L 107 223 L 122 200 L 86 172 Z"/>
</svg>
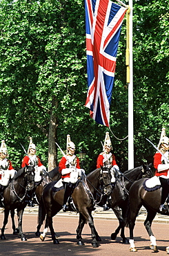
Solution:
<svg viewBox="0 0 169 256">
<path fill-rule="evenodd" d="M 100 170 L 100 185 L 101 189 L 103 190 L 103 194 L 109 195 L 112 192 L 112 183 L 111 183 L 111 173 L 108 167 L 102 167 Z"/>
</svg>

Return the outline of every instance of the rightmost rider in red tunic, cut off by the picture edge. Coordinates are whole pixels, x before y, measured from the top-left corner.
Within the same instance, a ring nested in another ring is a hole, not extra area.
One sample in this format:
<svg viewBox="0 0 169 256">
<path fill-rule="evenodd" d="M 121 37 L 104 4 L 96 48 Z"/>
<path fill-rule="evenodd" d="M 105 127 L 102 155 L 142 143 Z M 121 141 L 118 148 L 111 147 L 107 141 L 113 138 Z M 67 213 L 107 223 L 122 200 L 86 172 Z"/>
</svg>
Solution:
<svg viewBox="0 0 169 256">
<path fill-rule="evenodd" d="M 159 211 L 166 213 L 166 198 L 169 193 L 169 161 L 168 159 L 168 149 L 169 149 L 169 139 L 166 137 L 166 129 L 163 128 L 161 131 L 161 138 L 159 140 L 158 149 L 161 151 L 163 155 L 159 152 L 156 152 L 154 156 L 154 167 L 156 169 L 155 176 L 159 176 L 159 180 L 161 183 L 161 205 L 159 207 Z"/>
</svg>

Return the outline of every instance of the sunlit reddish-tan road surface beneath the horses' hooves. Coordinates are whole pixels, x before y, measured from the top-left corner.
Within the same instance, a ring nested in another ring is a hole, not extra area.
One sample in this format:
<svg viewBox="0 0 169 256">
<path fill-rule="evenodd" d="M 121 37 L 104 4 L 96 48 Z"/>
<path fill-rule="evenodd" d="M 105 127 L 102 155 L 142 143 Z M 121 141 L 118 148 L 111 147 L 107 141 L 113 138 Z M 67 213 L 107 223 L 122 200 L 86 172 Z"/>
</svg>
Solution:
<svg viewBox="0 0 169 256">
<path fill-rule="evenodd" d="M 3 214 L 0 214 L 0 225 L 3 223 Z M 16 217 L 17 223 L 17 217 Z M 135 226 L 135 245 L 137 246 L 137 253 L 129 251 L 129 245 L 122 244 L 121 237 L 117 237 L 116 241 L 110 239 L 110 235 L 118 226 L 118 221 L 110 219 L 95 219 L 95 228 L 99 233 L 102 241 L 98 248 L 92 248 L 91 234 L 88 224 L 85 225 L 82 232 L 85 246 L 78 246 L 76 239 L 76 228 L 78 226 L 77 217 L 59 217 L 53 218 L 54 231 L 56 232 L 60 244 L 52 244 L 50 232 L 48 232 L 46 240 L 41 241 L 39 237 L 34 235 L 37 226 L 37 215 L 24 214 L 23 215 L 23 232 L 26 235 L 27 241 L 21 241 L 18 235 L 12 235 L 12 225 L 9 217 L 6 225 L 6 240 L 0 241 L 1 255 L 152 255 L 154 253 L 150 250 L 150 239 L 143 226 L 143 222 L 136 222 Z M 159 252 L 157 255 L 167 255 L 166 247 L 168 242 L 169 224 L 153 223 L 153 232 L 157 239 L 157 248 Z M 43 228 L 42 228 L 43 230 Z M 41 231 L 42 231 L 41 230 Z M 126 237 L 129 237 L 129 230 L 126 228 Z"/>
</svg>

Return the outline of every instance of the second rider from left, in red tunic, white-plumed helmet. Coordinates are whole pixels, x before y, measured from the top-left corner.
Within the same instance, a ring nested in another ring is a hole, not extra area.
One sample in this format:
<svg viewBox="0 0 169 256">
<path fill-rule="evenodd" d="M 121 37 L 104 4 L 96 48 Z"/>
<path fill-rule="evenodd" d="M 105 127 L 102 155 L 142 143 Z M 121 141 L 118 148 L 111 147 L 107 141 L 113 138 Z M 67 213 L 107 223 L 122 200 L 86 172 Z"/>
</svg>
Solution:
<svg viewBox="0 0 169 256">
<path fill-rule="evenodd" d="M 46 172 L 46 167 L 41 163 L 39 156 L 36 155 L 36 145 L 32 143 L 32 137 L 30 137 L 28 152 L 27 155 L 23 158 L 21 167 L 25 167 L 26 165 L 31 165 L 34 167 L 34 182 L 36 187 L 37 185 L 39 185 L 43 174 L 48 174 L 48 172 Z M 28 205 L 32 207 L 34 206 L 34 204 L 32 203 L 32 199 L 30 199 Z"/>
</svg>

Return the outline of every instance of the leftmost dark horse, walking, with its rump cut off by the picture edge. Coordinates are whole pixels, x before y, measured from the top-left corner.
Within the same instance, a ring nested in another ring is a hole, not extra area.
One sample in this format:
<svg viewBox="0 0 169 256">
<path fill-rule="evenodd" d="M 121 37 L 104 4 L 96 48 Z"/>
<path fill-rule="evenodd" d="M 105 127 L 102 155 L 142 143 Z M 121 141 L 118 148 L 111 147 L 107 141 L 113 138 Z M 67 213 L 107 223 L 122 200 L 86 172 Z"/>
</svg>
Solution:
<svg viewBox="0 0 169 256">
<path fill-rule="evenodd" d="M 18 217 L 18 232 L 21 237 L 21 241 L 26 241 L 26 237 L 22 231 L 22 216 L 24 208 L 26 208 L 27 193 L 29 190 L 34 189 L 34 167 L 26 166 L 21 168 L 14 175 L 14 178 L 9 183 L 8 187 L 3 192 L 3 204 L 4 204 L 4 220 L 3 227 L 1 228 L 1 239 L 6 239 L 4 230 L 8 223 L 9 212 L 12 217 L 12 229 L 14 234 L 17 232 L 14 225 L 14 209 L 17 209 Z"/>
</svg>

